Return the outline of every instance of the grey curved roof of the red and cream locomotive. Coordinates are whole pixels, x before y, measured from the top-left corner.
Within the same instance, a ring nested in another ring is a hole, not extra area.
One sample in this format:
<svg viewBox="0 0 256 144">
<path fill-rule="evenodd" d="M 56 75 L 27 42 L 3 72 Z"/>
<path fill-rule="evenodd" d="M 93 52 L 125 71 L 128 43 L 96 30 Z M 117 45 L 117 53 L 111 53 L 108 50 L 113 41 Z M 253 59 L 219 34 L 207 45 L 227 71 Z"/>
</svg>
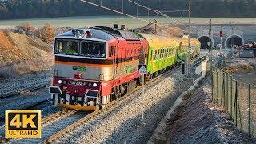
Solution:
<svg viewBox="0 0 256 144">
<path fill-rule="evenodd" d="M 97 39 L 102 39 L 106 41 L 114 38 L 124 38 L 126 40 L 140 40 L 140 37 L 134 32 L 131 32 L 128 30 L 112 29 L 110 27 L 105 27 L 105 26 L 95 26 L 89 29 L 78 29 L 78 30 L 83 30 L 85 33 L 86 31 L 89 31 L 91 34 L 90 38 L 97 38 Z M 71 30 L 66 33 L 59 34 L 56 38 L 63 38 L 63 37 L 76 38 Z M 84 38 L 86 38 L 86 36 Z"/>
</svg>

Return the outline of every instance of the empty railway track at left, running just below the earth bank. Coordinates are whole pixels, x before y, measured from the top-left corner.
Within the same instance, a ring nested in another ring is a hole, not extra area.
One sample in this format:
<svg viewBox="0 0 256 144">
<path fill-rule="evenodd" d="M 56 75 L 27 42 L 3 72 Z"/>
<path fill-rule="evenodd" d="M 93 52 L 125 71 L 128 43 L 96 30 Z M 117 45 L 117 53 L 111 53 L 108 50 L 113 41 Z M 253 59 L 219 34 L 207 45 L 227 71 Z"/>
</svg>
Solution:
<svg viewBox="0 0 256 144">
<path fill-rule="evenodd" d="M 43 86 L 50 84 L 50 77 L 47 78 L 33 78 L 30 80 L 23 80 L 21 82 L 13 82 L 1 86 L 0 99 L 10 97 L 14 94 L 20 94 L 24 90 L 36 90 Z"/>
</svg>

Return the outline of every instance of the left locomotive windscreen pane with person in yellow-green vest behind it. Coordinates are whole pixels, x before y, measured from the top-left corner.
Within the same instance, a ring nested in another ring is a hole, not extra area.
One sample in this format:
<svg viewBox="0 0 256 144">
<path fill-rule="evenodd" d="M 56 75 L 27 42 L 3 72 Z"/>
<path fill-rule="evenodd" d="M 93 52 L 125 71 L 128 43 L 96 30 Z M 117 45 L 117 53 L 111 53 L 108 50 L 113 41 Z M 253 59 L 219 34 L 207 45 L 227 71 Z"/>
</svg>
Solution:
<svg viewBox="0 0 256 144">
<path fill-rule="evenodd" d="M 74 39 L 56 39 L 54 53 L 78 55 L 78 40 Z"/>
</svg>

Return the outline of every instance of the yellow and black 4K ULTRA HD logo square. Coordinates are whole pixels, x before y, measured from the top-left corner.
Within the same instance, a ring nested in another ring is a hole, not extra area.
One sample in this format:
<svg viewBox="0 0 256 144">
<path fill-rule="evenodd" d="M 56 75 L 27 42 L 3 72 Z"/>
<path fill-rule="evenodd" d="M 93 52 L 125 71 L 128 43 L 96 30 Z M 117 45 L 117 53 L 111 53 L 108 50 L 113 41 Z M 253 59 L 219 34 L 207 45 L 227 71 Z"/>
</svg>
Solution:
<svg viewBox="0 0 256 144">
<path fill-rule="evenodd" d="M 41 110 L 6 110 L 6 138 L 41 138 Z"/>
</svg>

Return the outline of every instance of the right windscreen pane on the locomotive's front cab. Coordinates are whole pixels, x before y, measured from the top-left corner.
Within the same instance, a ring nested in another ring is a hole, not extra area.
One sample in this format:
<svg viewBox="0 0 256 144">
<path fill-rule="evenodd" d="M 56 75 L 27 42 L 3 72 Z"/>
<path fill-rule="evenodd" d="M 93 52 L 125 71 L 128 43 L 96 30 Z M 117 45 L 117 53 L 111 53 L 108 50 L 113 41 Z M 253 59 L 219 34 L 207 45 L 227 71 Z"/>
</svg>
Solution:
<svg viewBox="0 0 256 144">
<path fill-rule="evenodd" d="M 86 57 L 105 58 L 106 43 L 95 41 L 82 41 L 81 55 Z"/>
</svg>

